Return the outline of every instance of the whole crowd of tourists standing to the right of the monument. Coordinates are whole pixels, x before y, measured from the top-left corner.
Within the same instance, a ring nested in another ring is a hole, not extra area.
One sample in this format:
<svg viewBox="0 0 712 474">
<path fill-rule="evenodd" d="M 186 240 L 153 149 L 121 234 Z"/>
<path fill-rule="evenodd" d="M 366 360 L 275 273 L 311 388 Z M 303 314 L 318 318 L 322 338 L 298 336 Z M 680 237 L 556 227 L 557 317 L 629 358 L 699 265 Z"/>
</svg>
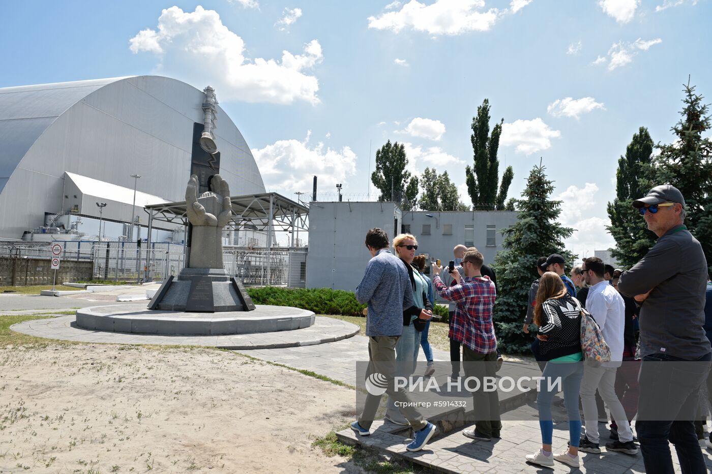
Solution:
<svg viewBox="0 0 712 474">
<path fill-rule="evenodd" d="M 708 376 L 712 284 L 706 259 L 700 243 L 684 226 L 685 201 L 674 186 L 656 186 L 633 206 L 658 241 L 629 270 L 591 257 L 575 266 L 569 278 L 565 258 L 559 254 L 535 263 L 540 278 L 530 287 L 523 332 L 529 333 L 532 324 L 537 328 L 532 351 L 544 381 L 537 398 L 542 446 L 526 456 L 530 463 L 553 465 L 558 460 L 578 467 L 578 451 L 600 453 L 598 423 L 601 418 L 607 421 L 607 406 L 612 417 L 608 451 L 634 455 L 639 452 L 639 441 L 646 472 L 672 473 L 669 443 L 673 443 L 683 473 L 705 472 L 696 426 L 701 431 L 698 394 L 705 381 L 712 402 L 712 376 Z M 367 233 L 366 246 L 372 259 L 356 297 L 367 303 L 368 374 L 387 377 L 389 404 L 384 418 L 411 425 L 414 436 L 407 449 L 419 451 L 436 427 L 412 404 L 397 403 L 407 402 L 408 396 L 394 389 L 394 374 L 414 373 L 421 346 L 428 361 L 425 376 L 434 374 L 427 334 L 437 293 L 450 303 L 451 379 L 459 377 L 460 346 L 468 378 L 495 376 L 496 362 L 501 361 L 492 321 L 496 276 L 474 247 L 454 249 L 455 268 L 432 263 L 430 280 L 423 273 L 425 257 L 415 256 L 414 236 L 397 236 L 391 251 L 387 234 L 373 228 Z M 582 315 L 595 320 L 610 362 L 585 360 Z M 636 362 L 639 359 L 642 364 Z M 689 364 L 681 370 L 679 364 L 645 362 Z M 560 454 L 552 453 L 551 407 L 557 379 L 562 381 L 558 386 L 570 429 L 569 447 Z M 367 394 L 360 418 L 352 423 L 360 436 L 370 434 L 379 399 Z M 478 441 L 499 438 L 497 391 L 473 391 L 473 402 L 476 423 L 464 436 Z M 664 416 L 661 406 L 666 408 Z M 634 418 L 637 438 L 632 431 Z M 707 443 L 712 448 L 712 438 Z"/>
</svg>

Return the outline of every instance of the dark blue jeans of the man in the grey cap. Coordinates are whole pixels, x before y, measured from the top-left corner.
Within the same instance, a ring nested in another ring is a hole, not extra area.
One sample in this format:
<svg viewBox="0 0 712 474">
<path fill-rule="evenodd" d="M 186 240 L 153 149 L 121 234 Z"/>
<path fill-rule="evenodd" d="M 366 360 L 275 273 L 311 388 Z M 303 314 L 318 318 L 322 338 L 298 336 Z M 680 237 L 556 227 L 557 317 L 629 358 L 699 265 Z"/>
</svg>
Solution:
<svg viewBox="0 0 712 474">
<path fill-rule="evenodd" d="M 710 359 L 710 354 L 706 354 L 696 361 L 708 362 Z M 639 421 L 635 423 L 635 430 L 640 441 L 645 472 L 648 474 L 674 473 L 669 443 L 675 445 L 683 474 L 707 472 L 693 420 L 699 388 L 707 377 L 709 364 L 696 364 L 696 361 L 684 361 L 666 354 L 643 357 L 638 379 Z M 681 367 L 682 362 L 691 364 Z M 669 409 L 674 407 L 674 413 L 666 413 L 666 420 L 651 421 L 655 419 L 655 414 L 659 413 L 661 406 Z"/>
</svg>

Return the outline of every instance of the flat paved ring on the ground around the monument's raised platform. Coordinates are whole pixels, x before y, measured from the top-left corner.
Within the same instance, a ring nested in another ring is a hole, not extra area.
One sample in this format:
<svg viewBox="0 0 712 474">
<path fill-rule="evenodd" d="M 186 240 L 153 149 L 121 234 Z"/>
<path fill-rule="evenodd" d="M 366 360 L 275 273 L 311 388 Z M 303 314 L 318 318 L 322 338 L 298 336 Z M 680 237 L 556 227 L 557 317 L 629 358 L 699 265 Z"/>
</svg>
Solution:
<svg viewBox="0 0 712 474">
<path fill-rule="evenodd" d="M 63 341 L 104 344 L 162 344 L 218 347 L 220 349 L 278 349 L 335 342 L 358 334 L 357 325 L 331 317 L 315 317 L 314 324 L 293 331 L 223 336 L 139 335 L 87 330 L 75 324 L 75 316 L 20 322 L 10 327 L 22 334 Z"/>
</svg>

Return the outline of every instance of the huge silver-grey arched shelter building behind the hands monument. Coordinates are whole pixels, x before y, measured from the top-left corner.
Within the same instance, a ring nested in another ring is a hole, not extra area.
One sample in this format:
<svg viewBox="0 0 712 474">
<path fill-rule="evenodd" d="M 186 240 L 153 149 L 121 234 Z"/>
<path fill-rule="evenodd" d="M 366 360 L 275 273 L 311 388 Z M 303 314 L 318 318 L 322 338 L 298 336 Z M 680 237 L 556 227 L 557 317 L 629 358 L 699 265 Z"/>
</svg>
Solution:
<svg viewBox="0 0 712 474">
<path fill-rule="evenodd" d="M 217 91 L 219 96 L 220 91 Z M 21 238 L 47 214 L 129 222 L 137 209 L 183 201 L 203 91 L 161 76 L 0 88 L 0 238 Z M 265 191 L 245 139 L 217 107 L 220 174 L 232 195 Z M 140 213 L 143 214 L 143 213 Z"/>
</svg>

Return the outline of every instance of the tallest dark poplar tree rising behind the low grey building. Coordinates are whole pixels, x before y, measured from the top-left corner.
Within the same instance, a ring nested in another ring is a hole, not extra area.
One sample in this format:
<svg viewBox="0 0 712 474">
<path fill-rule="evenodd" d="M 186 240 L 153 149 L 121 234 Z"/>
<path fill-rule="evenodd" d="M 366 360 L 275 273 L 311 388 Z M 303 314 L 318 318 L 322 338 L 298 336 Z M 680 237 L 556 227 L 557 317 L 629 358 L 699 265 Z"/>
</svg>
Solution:
<svg viewBox="0 0 712 474">
<path fill-rule="evenodd" d="M 502 184 L 499 186 L 499 137 L 502 134 L 504 119 L 496 123 L 490 134 L 490 105 L 485 99 L 477 107 L 476 117 L 472 117 L 472 135 L 470 142 L 473 150 L 473 166 L 465 169 L 467 192 L 472 200 L 474 209 L 505 209 L 504 201 L 507 199 L 509 185 L 514 177 L 514 169 L 507 167 Z"/>
</svg>

